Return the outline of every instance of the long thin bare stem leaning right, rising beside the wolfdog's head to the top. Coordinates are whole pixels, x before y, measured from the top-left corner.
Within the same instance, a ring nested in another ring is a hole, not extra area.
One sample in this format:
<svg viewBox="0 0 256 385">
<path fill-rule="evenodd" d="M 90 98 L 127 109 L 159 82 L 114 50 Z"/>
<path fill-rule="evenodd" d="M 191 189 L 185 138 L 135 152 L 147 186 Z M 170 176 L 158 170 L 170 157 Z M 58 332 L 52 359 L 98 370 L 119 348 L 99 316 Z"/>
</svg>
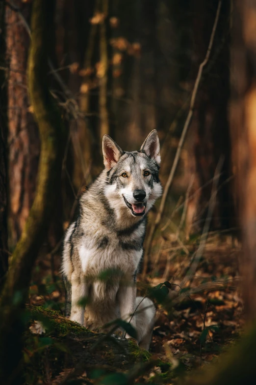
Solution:
<svg viewBox="0 0 256 385">
<path fill-rule="evenodd" d="M 212 45 L 213 45 L 213 40 L 214 40 L 214 36 L 215 36 L 215 32 L 216 32 L 216 28 L 217 28 L 217 24 L 218 24 L 218 20 L 219 20 L 221 5 L 222 5 L 222 0 L 219 0 L 218 7 L 217 7 L 217 12 L 216 12 L 216 16 L 215 16 L 215 20 L 214 20 L 214 24 L 213 24 L 213 28 L 212 28 L 212 32 L 211 32 L 211 36 L 210 36 L 210 40 L 209 40 L 209 45 L 208 45 L 208 48 L 207 48 L 205 59 L 200 64 L 200 66 L 199 66 L 199 70 L 198 70 L 195 86 L 194 86 L 194 89 L 193 89 L 193 92 L 192 92 L 192 96 L 191 96 L 189 112 L 188 112 L 188 115 L 187 115 L 187 118 L 186 118 L 183 130 L 182 130 L 182 133 L 181 133 L 181 137 L 179 139 L 179 145 L 178 145 L 178 148 L 177 148 L 177 151 L 176 151 L 176 155 L 175 155 L 175 158 L 174 158 L 173 166 L 172 166 L 172 169 L 170 171 L 170 175 L 168 177 L 167 183 L 165 185 L 164 193 L 163 193 L 163 196 L 162 196 L 162 199 L 161 199 L 161 203 L 160 203 L 160 207 L 159 207 L 158 213 L 156 215 L 155 222 L 154 222 L 154 224 L 151 227 L 150 234 L 149 234 L 149 237 L 148 237 L 148 241 L 147 241 L 147 244 L 146 244 L 146 250 L 145 250 L 145 256 L 144 256 L 144 267 L 143 267 L 143 278 L 145 278 L 145 275 L 146 275 L 146 272 L 147 272 L 147 267 L 148 267 L 147 265 L 148 265 L 148 260 L 149 260 L 149 254 L 150 254 L 151 247 L 152 247 L 152 241 L 153 241 L 153 238 L 154 238 L 154 235 L 155 235 L 155 230 L 156 230 L 156 228 L 157 228 L 157 226 L 158 226 L 158 224 L 160 222 L 160 219 L 162 217 L 162 213 L 163 213 L 163 210 L 164 210 L 164 207 L 165 207 L 166 198 L 167 198 L 169 189 L 170 189 L 170 187 L 172 185 L 173 178 L 174 178 L 174 175 L 175 175 L 175 172 L 176 172 L 176 169 L 177 169 L 177 165 L 178 165 L 178 162 L 179 162 L 181 148 L 183 146 L 187 130 L 189 128 L 191 119 L 193 117 L 196 96 L 197 96 L 199 84 L 200 84 L 200 81 L 201 81 L 201 78 L 202 78 L 203 69 L 204 69 L 205 65 L 207 64 L 207 62 L 209 60 L 209 57 L 210 57 L 210 53 L 211 53 L 211 49 L 212 49 Z"/>
</svg>

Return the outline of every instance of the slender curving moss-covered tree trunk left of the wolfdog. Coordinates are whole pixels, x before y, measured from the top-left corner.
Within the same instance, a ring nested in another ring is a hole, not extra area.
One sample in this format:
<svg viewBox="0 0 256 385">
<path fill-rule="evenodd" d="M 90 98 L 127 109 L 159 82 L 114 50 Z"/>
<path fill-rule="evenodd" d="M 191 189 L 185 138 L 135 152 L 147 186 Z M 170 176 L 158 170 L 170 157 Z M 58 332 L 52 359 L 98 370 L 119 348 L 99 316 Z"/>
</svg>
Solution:
<svg viewBox="0 0 256 385">
<path fill-rule="evenodd" d="M 48 47 L 54 28 L 53 0 L 34 0 L 31 15 L 31 46 L 28 58 L 28 89 L 41 139 L 36 195 L 0 300 L 0 383 L 19 384 L 22 358 L 22 311 L 28 296 L 32 268 L 47 235 L 61 180 L 64 131 L 59 111 L 47 86 Z"/>
</svg>

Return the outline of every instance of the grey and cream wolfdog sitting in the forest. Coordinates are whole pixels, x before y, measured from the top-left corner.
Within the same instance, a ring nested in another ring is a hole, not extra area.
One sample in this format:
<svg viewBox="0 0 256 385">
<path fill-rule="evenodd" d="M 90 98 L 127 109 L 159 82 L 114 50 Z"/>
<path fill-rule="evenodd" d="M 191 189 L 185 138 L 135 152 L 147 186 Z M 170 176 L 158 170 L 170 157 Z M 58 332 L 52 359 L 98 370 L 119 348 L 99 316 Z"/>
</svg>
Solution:
<svg viewBox="0 0 256 385">
<path fill-rule="evenodd" d="M 79 214 L 67 229 L 62 260 L 64 280 L 71 288 L 70 319 L 90 329 L 117 318 L 126 320 L 137 331 L 138 345 L 147 350 L 155 308 L 149 298 L 136 298 L 136 274 L 146 215 L 162 192 L 159 150 L 156 130 L 139 151 L 132 152 L 103 136 L 105 168 L 79 199 Z M 104 271 L 107 279 L 102 279 Z M 87 298 L 85 314 L 82 298 Z"/>
</svg>

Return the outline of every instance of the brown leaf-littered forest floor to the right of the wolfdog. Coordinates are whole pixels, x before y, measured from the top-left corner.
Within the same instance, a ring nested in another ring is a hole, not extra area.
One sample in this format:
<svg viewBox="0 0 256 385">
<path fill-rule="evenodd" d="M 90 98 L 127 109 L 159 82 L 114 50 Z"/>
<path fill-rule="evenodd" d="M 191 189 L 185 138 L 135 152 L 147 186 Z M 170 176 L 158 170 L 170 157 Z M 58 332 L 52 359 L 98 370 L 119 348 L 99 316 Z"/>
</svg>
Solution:
<svg viewBox="0 0 256 385">
<path fill-rule="evenodd" d="M 244 325 L 238 288 L 237 261 L 240 253 L 240 249 L 232 248 L 227 240 L 215 238 L 207 243 L 187 292 L 206 282 L 227 280 L 230 285 L 218 291 L 189 295 L 189 298 L 175 306 L 171 315 L 164 308 L 158 308 L 151 347 L 153 354 L 165 360 L 167 352 L 164 347 L 167 344 L 175 358 L 187 368 L 193 368 L 214 360 L 240 334 Z M 182 272 L 189 264 L 189 256 L 184 253 L 175 256 L 170 264 L 170 283 L 180 285 Z M 159 277 L 154 277 L 151 285 L 163 282 L 160 276 L 165 268 L 166 261 L 161 259 Z"/>
</svg>

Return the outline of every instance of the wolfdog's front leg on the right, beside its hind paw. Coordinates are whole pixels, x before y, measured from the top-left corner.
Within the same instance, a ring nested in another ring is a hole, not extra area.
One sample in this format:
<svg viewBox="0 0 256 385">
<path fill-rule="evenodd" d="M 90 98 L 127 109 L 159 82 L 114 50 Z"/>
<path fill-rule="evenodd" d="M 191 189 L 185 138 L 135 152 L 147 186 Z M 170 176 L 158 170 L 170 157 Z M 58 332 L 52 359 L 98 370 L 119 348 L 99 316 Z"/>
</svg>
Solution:
<svg viewBox="0 0 256 385">
<path fill-rule="evenodd" d="M 134 314 L 136 302 L 136 286 L 134 285 L 134 282 L 131 282 L 130 286 L 121 286 L 119 288 L 118 302 L 122 320 L 129 322 L 131 326 L 136 329 L 136 317 Z M 130 338 L 130 336 L 126 334 L 126 338 Z"/>
</svg>

